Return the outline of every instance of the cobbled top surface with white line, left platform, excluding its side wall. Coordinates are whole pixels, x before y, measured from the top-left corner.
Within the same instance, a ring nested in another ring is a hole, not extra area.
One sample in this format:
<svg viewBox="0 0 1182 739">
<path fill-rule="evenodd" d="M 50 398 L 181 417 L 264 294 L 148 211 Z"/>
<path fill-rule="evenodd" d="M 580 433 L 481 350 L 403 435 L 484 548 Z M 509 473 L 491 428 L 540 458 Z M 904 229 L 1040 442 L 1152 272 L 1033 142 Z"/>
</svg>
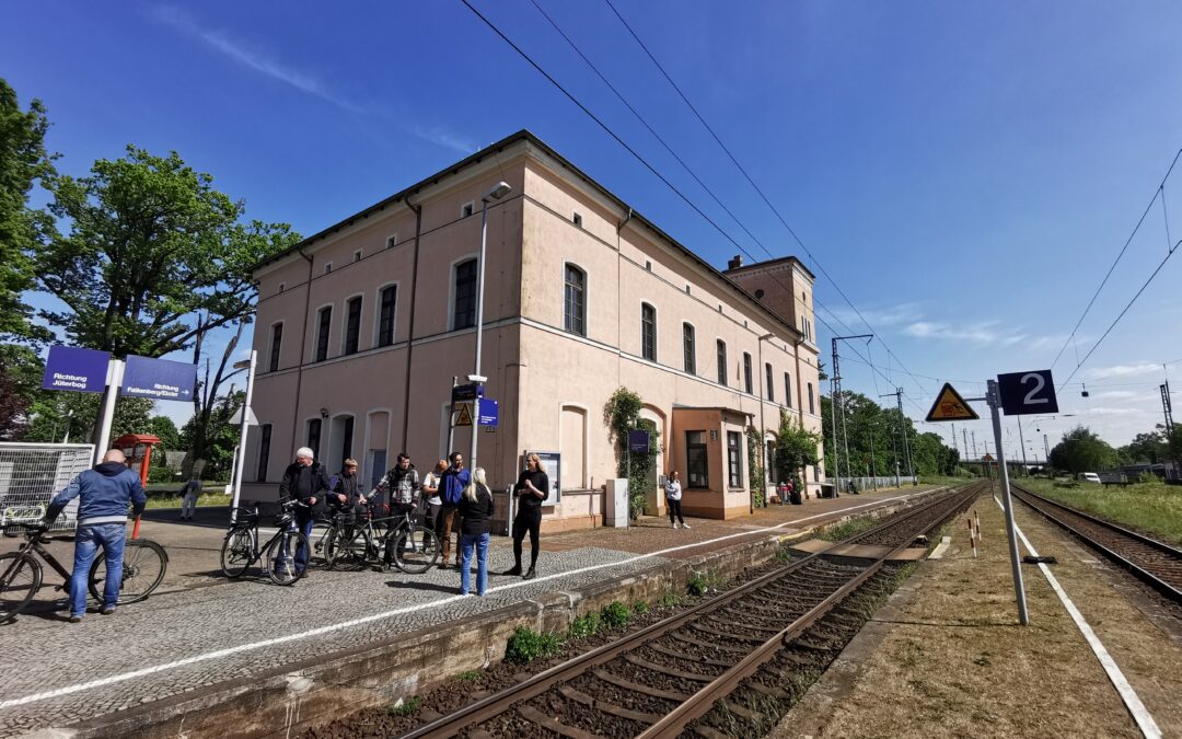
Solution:
<svg viewBox="0 0 1182 739">
<path fill-rule="evenodd" d="M 688 530 L 642 519 L 631 529 L 552 534 L 545 538 L 538 579 L 494 575 L 483 598 L 459 596 L 459 573 L 450 568 L 416 576 L 313 570 L 292 588 L 273 585 L 261 572 L 227 582 L 219 570 L 225 508 L 202 510 L 194 523 L 175 521 L 171 511 L 149 512 L 142 536 L 163 544 L 170 556 L 157 594 L 112 616 L 91 612 L 70 624 L 52 610 L 61 594 L 51 590 L 57 576 L 47 570 L 43 608 L 0 625 L 0 737 L 61 735 L 47 730 L 311 657 L 327 661 L 394 635 L 625 578 L 663 560 L 804 532 L 921 494 L 923 488 L 907 488 L 811 500 L 732 521 L 690 519 Z M 0 542 L 0 551 L 15 546 L 14 539 Z M 70 560 L 72 544 L 52 549 Z M 507 569 L 512 557 L 512 543 L 494 537 L 489 571 Z"/>
</svg>

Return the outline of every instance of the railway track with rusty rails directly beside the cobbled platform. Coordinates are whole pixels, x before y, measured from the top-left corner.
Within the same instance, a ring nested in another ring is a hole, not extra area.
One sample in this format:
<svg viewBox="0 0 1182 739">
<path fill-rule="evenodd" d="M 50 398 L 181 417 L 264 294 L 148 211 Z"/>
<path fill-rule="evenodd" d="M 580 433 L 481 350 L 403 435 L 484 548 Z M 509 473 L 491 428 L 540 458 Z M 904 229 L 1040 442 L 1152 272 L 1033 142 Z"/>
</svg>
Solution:
<svg viewBox="0 0 1182 739">
<path fill-rule="evenodd" d="M 649 739 L 735 733 L 734 721 L 758 722 L 751 695 L 755 704 L 791 699 L 793 675 L 823 672 L 860 628 L 863 620 L 842 610 L 852 594 L 873 588 L 890 572 L 891 556 L 983 490 L 978 484 L 953 491 L 834 545 L 872 543 L 877 557 L 804 556 L 404 737 Z M 735 699 L 736 691 L 748 698 Z"/>
</svg>

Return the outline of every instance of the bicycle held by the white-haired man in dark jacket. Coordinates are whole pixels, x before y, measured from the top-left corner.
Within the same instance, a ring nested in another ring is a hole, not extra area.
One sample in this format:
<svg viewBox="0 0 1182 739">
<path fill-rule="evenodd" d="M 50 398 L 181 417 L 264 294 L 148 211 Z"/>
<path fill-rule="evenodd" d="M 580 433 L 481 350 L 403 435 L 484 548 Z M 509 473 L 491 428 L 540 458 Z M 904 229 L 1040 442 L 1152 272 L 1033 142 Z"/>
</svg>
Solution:
<svg viewBox="0 0 1182 739">
<path fill-rule="evenodd" d="M 275 519 L 274 536 L 261 547 L 259 543 L 259 506 L 236 508 L 234 524 L 226 532 L 222 542 L 222 573 L 233 579 L 241 577 L 255 562 L 265 558 L 264 566 L 267 577 L 277 585 L 293 585 L 304 576 L 296 569 L 296 551 L 303 545 L 309 558 L 312 547 L 303 532 L 292 529 L 296 520 L 296 506 L 304 505 L 296 500 L 282 503 L 279 517 Z"/>
</svg>

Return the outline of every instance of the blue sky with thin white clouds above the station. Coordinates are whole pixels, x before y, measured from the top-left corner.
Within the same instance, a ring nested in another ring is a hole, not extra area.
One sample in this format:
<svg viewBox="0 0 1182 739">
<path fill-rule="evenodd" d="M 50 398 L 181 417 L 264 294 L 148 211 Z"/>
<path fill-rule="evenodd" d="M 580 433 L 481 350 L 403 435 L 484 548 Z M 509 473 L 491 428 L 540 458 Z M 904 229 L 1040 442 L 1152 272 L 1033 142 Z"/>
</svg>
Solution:
<svg viewBox="0 0 1182 739">
<path fill-rule="evenodd" d="M 845 387 L 902 385 L 913 417 L 937 380 L 978 395 L 986 377 L 1051 365 L 1182 147 L 1178 4 L 613 0 L 818 267 L 606 2 L 537 1 L 773 255 L 836 280 L 885 342 L 843 349 Z M 767 257 L 533 2 L 472 2 Z M 128 143 L 175 149 L 251 218 L 310 234 L 528 128 L 715 266 L 736 253 L 459 0 L 51 0 L 5 15 L 0 74 L 46 104 L 67 173 Z M 1067 342 L 1059 382 L 1165 255 L 1167 215 L 1182 235 L 1178 170 Z M 1061 389 L 1072 416 L 1032 420 L 1031 449 L 1077 422 L 1124 443 L 1161 420 L 1161 365 L 1182 361 L 1180 271 L 1167 262 Z M 827 362 L 825 322 L 865 326 L 833 281 L 817 297 Z M 1182 390 L 1182 362 L 1167 369 Z M 983 452 L 986 423 L 969 428 Z"/>
</svg>

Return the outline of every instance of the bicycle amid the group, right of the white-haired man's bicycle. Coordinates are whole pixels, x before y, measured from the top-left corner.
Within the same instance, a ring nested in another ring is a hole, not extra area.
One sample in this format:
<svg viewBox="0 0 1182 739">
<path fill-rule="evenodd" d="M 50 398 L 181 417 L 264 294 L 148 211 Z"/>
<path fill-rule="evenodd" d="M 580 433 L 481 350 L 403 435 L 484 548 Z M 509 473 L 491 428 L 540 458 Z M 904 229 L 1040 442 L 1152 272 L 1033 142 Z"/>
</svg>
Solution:
<svg viewBox="0 0 1182 739">
<path fill-rule="evenodd" d="M 339 529 L 336 537 L 330 537 L 325 546 L 325 558 L 332 570 L 361 570 L 371 563 L 396 568 L 409 575 L 422 575 L 439 560 L 440 543 L 435 532 L 414 523 L 410 511 L 402 516 L 375 519 L 366 513 L 359 526 Z M 383 521 L 396 521 L 389 531 L 378 533 L 377 526 Z"/>
</svg>

